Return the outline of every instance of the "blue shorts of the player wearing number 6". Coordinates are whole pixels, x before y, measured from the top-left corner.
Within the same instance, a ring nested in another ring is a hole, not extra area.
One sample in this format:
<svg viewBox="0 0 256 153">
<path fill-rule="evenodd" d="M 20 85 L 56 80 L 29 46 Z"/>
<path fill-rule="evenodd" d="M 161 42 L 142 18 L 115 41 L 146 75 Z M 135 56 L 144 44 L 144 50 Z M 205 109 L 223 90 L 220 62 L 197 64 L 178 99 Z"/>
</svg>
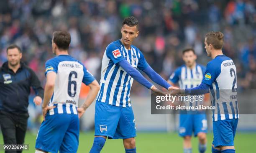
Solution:
<svg viewBox="0 0 256 153">
<path fill-rule="evenodd" d="M 77 114 L 46 115 L 36 138 L 36 149 L 51 153 L 76 153 L 79 140 Z"/>
</svg>

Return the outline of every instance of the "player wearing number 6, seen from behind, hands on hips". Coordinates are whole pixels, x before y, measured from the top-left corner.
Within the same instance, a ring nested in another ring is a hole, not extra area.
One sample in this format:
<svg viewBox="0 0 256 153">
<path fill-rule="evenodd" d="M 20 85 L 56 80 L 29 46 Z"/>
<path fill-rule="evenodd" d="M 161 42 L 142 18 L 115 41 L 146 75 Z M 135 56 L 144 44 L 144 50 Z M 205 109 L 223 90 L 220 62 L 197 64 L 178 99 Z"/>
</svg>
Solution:
<svg viewBox="0 0 256 153">
<path fill-rule="evenodd" d="M 57 56 L 45 64 L 44 121 L 36 138 L 36 153 L 76 153 L 79 118 L 100 89 L 84 65 L 69 56 L 70 41 L 68 32 L 57 31 L 53 34 L 52 50 Z M 77 109 L 82 82 L 90 86 L 90 91 L 82 107 Z"/>
</svg>

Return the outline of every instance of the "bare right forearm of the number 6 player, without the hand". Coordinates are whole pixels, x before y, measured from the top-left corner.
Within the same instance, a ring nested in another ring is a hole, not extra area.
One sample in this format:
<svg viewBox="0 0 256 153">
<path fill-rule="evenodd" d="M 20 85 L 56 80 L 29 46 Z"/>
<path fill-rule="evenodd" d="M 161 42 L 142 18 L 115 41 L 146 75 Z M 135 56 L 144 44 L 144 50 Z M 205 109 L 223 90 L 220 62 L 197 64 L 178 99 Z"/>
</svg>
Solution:
<svg viewBox="0 0 256 153">
<path fill-rule="evenodd" d="M 90 86 L 90 91 L 88 93 L 87 99 L 85 100 L 84 104 L 82 104 L 81 106 L 84 110 L 86 110 L 92 104 L 92 102 L 97 96 L 98 91 L 100 90 L 100 86 L 96 80 L 93 81 L 92 84 L 90 84 L 89 86 Z"/>
</svg>

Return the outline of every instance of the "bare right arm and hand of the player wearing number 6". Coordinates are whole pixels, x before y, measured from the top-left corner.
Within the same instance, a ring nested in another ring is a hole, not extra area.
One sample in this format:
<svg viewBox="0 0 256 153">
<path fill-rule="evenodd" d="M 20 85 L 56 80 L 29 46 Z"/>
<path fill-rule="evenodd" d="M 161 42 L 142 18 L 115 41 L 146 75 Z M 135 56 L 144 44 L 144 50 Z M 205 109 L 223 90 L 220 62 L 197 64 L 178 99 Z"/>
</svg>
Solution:
<svg viewBox="0 0 256 153">
<path fill-rule="evenodd" d="M 90 91 L 88 93 L 87 99 L 85 100 L 84 104 L 82 104 L 82 106 L 77 109 L 79 118 L 84 114 L 84 111 L 92 104 L 95 97 L 97 96 L 98 91 L 100 90 L 100 85 L 96 80 L 92 81 L 92 83 L 90 83 L 88 86 L 90 87 Z"/>
</svg>

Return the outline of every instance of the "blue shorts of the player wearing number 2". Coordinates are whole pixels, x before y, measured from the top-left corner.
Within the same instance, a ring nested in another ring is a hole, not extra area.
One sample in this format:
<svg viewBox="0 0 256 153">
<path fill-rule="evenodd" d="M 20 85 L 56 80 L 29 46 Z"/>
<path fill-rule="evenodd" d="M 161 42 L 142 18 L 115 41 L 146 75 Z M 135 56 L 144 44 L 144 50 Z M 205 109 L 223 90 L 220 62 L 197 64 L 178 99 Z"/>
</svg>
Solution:
<svg viewBox="0 0 256 153">
<path fill-rule="evenodd" d="M 213 141 L 215 148 L 220 146 L 234 146 L 238 118 L 213 121 Z"/>
</svg>

